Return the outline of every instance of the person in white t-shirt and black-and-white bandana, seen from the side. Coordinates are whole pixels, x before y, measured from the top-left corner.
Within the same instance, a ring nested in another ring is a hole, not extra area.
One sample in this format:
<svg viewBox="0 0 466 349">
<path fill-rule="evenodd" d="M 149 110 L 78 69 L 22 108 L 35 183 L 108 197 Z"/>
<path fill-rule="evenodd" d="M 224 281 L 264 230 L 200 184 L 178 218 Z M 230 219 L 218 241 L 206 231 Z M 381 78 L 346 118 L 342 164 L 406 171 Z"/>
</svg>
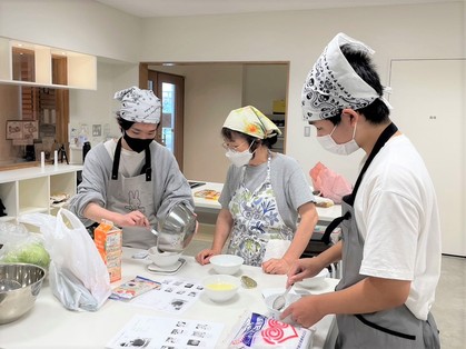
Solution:
<svg viewBox="0 0 466 349">
<path fill-rule="evenodd" d="M 435 189 L 422 157 L 390 121 L 373 53 L 339 33 L 303 87 L 303 117 L 321 146 L 366 157 L 343 216 L 324 235 L 339 226 L 343 240 L 288 271 L 287 286 L 343 260 L 336 291 L 304 297 L 281 317 L 310 327 L 335 313 L 336 348 L 439 348 L 430 313 L 442 257 Z"/>
</svg>

